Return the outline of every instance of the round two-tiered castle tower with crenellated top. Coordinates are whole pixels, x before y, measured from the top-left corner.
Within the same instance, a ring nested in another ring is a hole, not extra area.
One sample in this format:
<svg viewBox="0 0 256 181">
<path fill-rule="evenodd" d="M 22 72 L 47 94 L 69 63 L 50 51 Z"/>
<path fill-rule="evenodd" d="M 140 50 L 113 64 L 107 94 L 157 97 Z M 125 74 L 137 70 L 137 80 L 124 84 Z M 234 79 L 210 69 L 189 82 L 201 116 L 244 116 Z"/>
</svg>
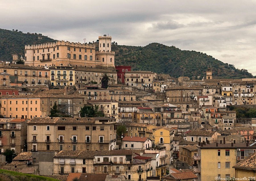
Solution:
<svg viewBox="0 0 256 181">
<path fill-rule="evenodd" d="M 99 36 L 99 52 L 95 53 L 98 65 L 115 67 L 115 52 L 111 51 L 111 36 Z"/>
</svg>

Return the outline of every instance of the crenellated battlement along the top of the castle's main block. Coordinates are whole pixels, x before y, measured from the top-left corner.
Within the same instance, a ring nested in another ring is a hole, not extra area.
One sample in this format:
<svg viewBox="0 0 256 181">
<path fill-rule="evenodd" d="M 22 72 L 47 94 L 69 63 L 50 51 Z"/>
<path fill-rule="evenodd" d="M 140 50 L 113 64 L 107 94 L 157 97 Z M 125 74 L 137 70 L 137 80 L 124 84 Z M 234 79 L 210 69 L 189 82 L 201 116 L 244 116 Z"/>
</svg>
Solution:
<svg viewBox="0 0 256 181">
<path fill-rule="evenodd" d="M 85 44 L 85 43 L 74 43 L 69 41 L 57 41 L 54 43 L 44 43 L 44 44 L 37 44 L 37 45 L 25 45 L 25 50 L 34 50 L 34 49 L 41 49 L 41 48 L 52 48 L 56 46 L 71 46 L 77 48 L 91 48 L 95 49 L 95 45 L 93 44 Z"/>
</svg>

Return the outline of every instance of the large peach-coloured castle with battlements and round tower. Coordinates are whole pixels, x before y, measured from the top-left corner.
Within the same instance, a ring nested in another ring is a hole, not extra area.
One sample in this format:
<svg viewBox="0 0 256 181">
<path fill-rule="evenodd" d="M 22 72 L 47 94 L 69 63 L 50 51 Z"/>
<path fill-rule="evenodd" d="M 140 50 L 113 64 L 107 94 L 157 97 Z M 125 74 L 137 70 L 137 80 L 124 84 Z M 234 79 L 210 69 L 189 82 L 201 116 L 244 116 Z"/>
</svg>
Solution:
<svg viewBox="0 0 256 181">
<path fill-rule="evenodd" d="M 111 51 L 111 36 L 99 36 L 99 51 L 95 45 L 57 41 L 25 46 L 25 64 L 30 66 L 114 67 L 115 52 Z"/>
</svg>

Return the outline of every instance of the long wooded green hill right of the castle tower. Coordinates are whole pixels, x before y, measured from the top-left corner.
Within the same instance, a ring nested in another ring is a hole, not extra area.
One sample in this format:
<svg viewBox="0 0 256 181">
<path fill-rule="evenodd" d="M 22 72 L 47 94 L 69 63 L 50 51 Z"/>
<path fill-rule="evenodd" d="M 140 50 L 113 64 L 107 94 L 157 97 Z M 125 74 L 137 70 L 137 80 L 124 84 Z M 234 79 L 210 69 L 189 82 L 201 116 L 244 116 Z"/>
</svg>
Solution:
<svg viewBox="0 0 256 181">
<path fill-rule="evenodd" d="M 166 73 L 176 78 L 205 77 L 208 67 L 212 69 L 214 78 L 253 77 L 245 69 L 236 69 L 234 65 L 225 64 L 202 52 L 180 50 L 159 43 L 144 47 L 112 44 L 112 51 L 115 52 L 115 65 L 131 65 L 133 70 Z"/>
</svg>

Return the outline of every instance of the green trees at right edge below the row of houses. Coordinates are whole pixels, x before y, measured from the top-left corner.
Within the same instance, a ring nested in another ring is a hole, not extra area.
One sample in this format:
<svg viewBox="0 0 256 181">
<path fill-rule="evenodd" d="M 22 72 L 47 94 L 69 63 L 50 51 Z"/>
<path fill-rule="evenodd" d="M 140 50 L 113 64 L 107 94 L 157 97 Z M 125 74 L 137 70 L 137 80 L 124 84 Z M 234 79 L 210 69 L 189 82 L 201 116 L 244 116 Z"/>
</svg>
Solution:
<svg viewBox="0 0 256 181">
<path fill-rule="evenodd" d="M 236 111 L 236 117 L 237 118 L 256 118 L 256 109 L 253 107 L 235 107 L 231 106 L 230 110 Z"/>
</svg>

